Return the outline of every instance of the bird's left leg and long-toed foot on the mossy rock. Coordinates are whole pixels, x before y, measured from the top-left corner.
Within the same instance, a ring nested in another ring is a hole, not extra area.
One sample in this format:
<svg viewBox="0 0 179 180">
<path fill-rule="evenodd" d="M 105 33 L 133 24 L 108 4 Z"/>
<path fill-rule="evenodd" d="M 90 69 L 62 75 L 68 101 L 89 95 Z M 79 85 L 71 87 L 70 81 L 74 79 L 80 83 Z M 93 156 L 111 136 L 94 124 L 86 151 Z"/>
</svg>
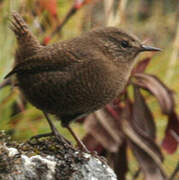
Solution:
<svg viewBox="0 0 179 180">
<path fill-rule="evenodd" d="M 44 113 L 44 116 L 45 118 L 47 119 L 47 122 L 50 126 L 50 129 L 51 129 L 51 132 L 50 133 L 44 133 L 44 134 L 39 134 L 39 135 L 36 135 L 36 136 L 32 136 L 30 138 L 30 141 L 32 139 L 40 139 L 42 137 L 48 137 L 48 136 L 55 136 L 59 141 L 62 141 L 64 143 L 68 143 L 68 144 L 71 144 L 66 138 L 64 138 L 57 130 L 57 128 L 54 126 L 54 124 L 52 123 L 51 119 L 49 118 L 48 114 L 46 112 L 43 112 Z"/>
</svg>

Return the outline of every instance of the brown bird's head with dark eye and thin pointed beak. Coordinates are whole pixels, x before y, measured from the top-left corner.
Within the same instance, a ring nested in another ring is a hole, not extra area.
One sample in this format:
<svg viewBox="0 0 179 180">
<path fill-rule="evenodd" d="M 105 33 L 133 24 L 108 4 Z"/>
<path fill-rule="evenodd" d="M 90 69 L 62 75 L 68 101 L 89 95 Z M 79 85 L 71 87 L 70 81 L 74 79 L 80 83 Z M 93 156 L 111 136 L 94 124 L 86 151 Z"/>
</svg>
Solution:
<svg viewBox="0 0 179 180">
<path fill-rule="evenodd" d="M 99 33 L 98 33 L 99 32 Z M 119 28 L 107 27 L 97 32 L 106 56 L 116 63 L 133 64 L 135 57 L 144 51 L 160 51 L 159 48 L 143 44 L 137 37 Z"/>
</svg>

